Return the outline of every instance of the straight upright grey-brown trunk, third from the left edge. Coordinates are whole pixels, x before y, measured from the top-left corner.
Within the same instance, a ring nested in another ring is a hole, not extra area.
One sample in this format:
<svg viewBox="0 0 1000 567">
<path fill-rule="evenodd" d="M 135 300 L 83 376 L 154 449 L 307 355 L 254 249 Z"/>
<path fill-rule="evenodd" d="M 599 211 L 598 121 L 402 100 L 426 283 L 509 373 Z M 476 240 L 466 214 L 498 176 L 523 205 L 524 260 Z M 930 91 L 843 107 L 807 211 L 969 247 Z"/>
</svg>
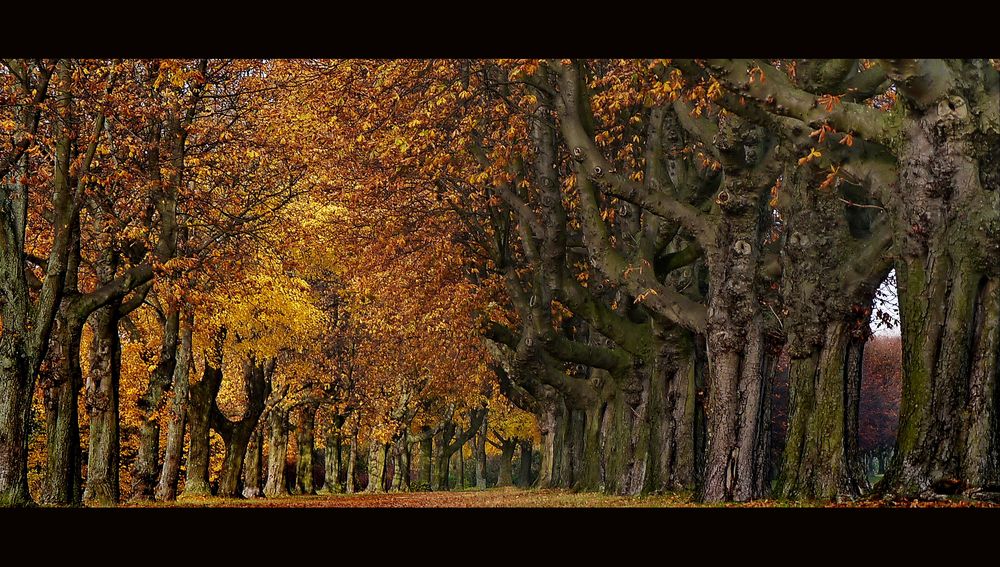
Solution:
<svg viewBox="0 0 1000 567">
<path fill-rule="evenodd" d="M 84 501 L 89 505 L 110 506 L 121 499 L 118 470 L 121 342 L 117 307 L 110 305 L 98 309 L 91 317 L 90 326 L 94 336 L 90 344 L 90 374 L 87 377 L 90 446 L 87 450 Z"/>
</svg>

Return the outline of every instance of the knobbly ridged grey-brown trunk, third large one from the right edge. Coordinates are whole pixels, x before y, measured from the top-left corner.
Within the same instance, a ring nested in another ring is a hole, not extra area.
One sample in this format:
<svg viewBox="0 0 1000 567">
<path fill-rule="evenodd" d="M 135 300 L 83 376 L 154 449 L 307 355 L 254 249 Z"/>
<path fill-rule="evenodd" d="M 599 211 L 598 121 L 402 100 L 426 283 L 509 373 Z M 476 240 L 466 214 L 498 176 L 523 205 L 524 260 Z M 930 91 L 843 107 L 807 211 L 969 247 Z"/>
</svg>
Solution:
<svg viewBox="0 0 1000 567">
<path fill-rule="evenodd" d="M 767 203 L 777 173 L 769 171 L 767 161 L 743 163 L 748 149 L 762 152 L 750 144 L 753 131 L 735 121 L 719 133 L 724 179 L 716 196 L 715 240 L 706 245 L 708 436 L 700 496 L 707 502 L 755 500 L 770 492 L 770 404 L 765 401 L 777 353 L 767 326 L 775 322 L 761 305 L 756 281 L 764 232 L 772 224 Z"/>
</svg>

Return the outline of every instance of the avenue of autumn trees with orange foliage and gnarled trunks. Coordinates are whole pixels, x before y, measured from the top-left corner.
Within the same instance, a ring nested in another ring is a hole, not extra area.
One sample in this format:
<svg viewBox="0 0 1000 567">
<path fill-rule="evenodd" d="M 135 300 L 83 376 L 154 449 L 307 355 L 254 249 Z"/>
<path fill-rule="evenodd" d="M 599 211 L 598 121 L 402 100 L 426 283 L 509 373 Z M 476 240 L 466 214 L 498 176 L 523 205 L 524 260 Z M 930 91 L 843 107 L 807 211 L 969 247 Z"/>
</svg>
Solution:
<svg viewBox="0 0 1000 567">
<path fill-rule="evenodd" d="M 998 67 L 3 60 L 0 505 L 995 498 Z"/>
</svg>

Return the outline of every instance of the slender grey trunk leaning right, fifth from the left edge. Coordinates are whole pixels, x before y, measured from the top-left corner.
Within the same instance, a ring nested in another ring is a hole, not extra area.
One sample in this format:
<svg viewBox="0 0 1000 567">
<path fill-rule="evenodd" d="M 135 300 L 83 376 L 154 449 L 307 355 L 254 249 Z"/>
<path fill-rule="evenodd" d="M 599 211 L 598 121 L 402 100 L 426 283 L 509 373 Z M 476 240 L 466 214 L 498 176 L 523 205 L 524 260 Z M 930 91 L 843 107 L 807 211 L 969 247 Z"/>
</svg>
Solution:
<svg viewBox="0 0 1000 567">
<path fill-rule="evenodd" d="M 181 330 L 181 345 L 177 350 L 177 365 L 174 368 L 174 398 L 170 407 L 170 424 L 167 427 L 167 445 L 163 451 L 163 469 L 156 485 L 155 496 L 160 501 L 177 499 L 177 480 L 180 477 L 181 457 L 184 453 L 184 430 L 187 424 L 188 375 L 191 371 L 193 353 L 191 335 L 193 317 Z"/>
</svg>

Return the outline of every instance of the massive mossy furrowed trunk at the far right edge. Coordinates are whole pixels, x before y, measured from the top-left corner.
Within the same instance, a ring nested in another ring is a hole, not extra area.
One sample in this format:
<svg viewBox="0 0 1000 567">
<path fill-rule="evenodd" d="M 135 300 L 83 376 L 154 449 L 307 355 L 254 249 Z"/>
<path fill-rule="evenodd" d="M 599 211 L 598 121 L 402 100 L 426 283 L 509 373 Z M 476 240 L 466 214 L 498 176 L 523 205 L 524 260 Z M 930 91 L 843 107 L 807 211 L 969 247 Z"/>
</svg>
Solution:
<svg viewBox="0 0 1000 567">
<path fill-rule="evenodd" d="M 884 492 L 1000 486 L 1000 158 L 985 60 L 915 60 L 889 204 L 898 251 L 903 397 Z M 904 67 L 906 67 L 904 65 Z"/>
</svg>

